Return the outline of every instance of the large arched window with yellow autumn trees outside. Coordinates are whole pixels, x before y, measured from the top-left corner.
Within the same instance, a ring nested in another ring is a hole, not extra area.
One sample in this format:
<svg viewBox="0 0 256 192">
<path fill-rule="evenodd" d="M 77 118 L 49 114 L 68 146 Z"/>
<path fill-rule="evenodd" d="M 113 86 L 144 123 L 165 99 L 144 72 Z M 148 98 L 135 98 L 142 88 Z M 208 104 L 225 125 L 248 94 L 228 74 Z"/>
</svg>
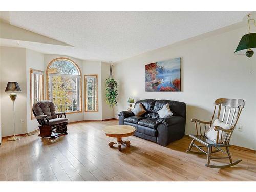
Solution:
<svg viewBox="0 0 256 192">
<path fill-rule="evenodd" d="M 52 60 L 46 70 L 47 98 L 58 112 L 81 112 L 81 71 L 68 58 Z"/>
</svg>

